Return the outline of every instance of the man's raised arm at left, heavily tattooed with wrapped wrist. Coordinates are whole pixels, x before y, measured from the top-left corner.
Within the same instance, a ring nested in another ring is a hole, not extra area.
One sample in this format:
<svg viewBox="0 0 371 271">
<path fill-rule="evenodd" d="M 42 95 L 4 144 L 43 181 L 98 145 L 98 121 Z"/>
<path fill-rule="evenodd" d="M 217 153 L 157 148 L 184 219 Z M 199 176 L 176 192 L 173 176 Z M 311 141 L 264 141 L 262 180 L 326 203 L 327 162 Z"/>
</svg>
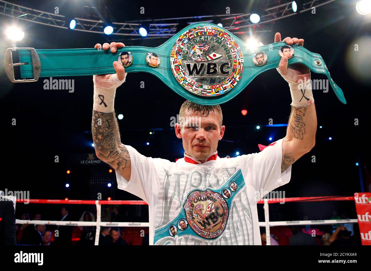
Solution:
<svg viewBox="0 0 371 271">
<path fill-rule="evenodd" d="M 123 43 L 104 43 L 103 47 L 96 44 L 95 48 L 103 48 L 116 52 Z M 130 180 L 131 163 L 129 152 L 121 143 L 118 123 L 114 111 L 116 88 L 125 81 L 125 69 L 118 61 L 113 63 L 116 74 L 94 75 L 94 104 L 92 117 L 92 135 L 96 156 L 119 172 L 126 180 Z"/>
</svg>

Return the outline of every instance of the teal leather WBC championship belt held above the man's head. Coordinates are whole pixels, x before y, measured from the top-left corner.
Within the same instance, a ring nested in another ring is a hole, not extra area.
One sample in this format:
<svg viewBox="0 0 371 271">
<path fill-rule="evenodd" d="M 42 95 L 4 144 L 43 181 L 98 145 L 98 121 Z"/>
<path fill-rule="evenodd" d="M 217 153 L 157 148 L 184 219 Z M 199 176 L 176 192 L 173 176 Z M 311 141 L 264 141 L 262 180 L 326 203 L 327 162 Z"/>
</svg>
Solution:
<svg viewBox="0 0 371 271">
<path fill-rule="evenodd" d="M 12 50 L 19 50 L 20 63 L 13 63 Z M 112 74 L 116 60 L 127 72 L 154 74 L 185 99 L 215 105 L 236 97 L 262 72 L 278 68 L 283 55 L 289 65 L 301 63 L 325 74 L 338 99 L 347 103 L 321 55 L 285 42 L 259 46 L 252 52 L 240 38 L 207 22 L 189 25 L 158 47 L 126 46 L 114 54 L 97 49 L 9 48 L 4 67 L 12 82 L 30 82 L 39 77 Z M 20 65 L 22 80 L 14 78 L 16 65 Z"/>
</svg>

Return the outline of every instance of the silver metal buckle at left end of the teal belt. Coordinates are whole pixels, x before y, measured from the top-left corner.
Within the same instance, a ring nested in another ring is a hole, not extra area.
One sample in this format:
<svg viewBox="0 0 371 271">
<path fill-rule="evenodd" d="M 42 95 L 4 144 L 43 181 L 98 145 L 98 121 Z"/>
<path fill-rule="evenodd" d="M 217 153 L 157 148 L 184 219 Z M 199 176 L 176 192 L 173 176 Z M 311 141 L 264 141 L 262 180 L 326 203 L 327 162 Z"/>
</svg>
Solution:
<svg viewBox="0 0 371 271">
<path fill-rule="evenodd" d="M 30 50 L 31 52 L 31 59 L 32 59 L 31 65 L 33 68 L 33 79 L 16 80 L 16 78 L 14 77 L 13 67 L 27 64 L 27 62 L 13 63 L 12 51 L 16 51 L 19 49 Z M 39 55 L 37 55 L 35 48 L 26 48 L 26 47 L 8 48 L 6 49 L 5 55 L 4 55 L 4 69 L 5 69 L 6 75 L 8 76 L 9 80 L 12 81 L 13 83 L 35 82 L 39 80 L 40 71 L 41 71 Z"/>
</svg>

